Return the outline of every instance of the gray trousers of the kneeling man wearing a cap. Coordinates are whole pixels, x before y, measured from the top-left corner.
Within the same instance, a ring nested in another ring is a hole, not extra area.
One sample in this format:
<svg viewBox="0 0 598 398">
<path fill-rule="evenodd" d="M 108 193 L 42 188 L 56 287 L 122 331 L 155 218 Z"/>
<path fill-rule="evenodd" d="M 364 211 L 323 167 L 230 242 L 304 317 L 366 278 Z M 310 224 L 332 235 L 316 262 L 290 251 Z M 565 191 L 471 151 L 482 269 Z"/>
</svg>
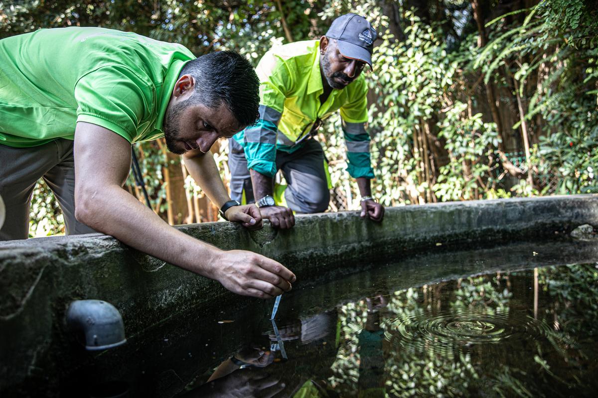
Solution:
<svg viewBox="0 0 598 398">
<path fill-rule="evenodd" d="M 253 185 L 243 147 L 234 139 L 228 142 L 231 199 L 241 202 L 245 189 L 247 203 L 254 203 Z M 324 171 L 324 150 L 318 141 L 309 138 L 293 153 L 277 150 L 276 168 L 282 170 L 287 183 L 285 199 L 289 208 L 301 213 L 319 213 L 328 209 L 330 191 Z"/>
</svg>

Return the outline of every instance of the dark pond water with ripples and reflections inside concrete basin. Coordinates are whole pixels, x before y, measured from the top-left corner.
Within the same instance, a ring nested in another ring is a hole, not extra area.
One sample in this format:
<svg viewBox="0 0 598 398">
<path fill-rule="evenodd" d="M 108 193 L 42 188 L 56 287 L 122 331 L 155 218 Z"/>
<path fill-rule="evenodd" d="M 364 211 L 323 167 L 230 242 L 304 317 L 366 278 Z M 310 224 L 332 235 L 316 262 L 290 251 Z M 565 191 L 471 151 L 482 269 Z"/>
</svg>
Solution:
<svg viewBox="0 0 598 398">
<path fill-rule="evenodd" d="M 595 244 L 547 242 L 369 264 L 283 295 L 274 323 L 274 300 L 171 319 L 62 395 L 594 396 L 596 261 Z"/>
</svg>

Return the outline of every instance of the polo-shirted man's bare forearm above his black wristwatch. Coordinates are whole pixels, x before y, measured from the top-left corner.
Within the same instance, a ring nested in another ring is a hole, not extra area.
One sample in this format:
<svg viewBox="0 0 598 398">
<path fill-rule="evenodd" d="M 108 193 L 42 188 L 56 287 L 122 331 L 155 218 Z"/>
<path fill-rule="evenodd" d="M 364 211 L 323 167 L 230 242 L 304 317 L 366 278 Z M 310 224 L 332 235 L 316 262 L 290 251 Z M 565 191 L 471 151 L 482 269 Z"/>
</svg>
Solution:
<svg viewBox="0 0 598 398">
<path fill-rule="evenodd" d="M 184 155 L 183 160 L 193 180 L 208 195 L 212 203 L 220 208 L 230 200 L 212 153 L 201 153 L 195 156 Z"/>
</svg>

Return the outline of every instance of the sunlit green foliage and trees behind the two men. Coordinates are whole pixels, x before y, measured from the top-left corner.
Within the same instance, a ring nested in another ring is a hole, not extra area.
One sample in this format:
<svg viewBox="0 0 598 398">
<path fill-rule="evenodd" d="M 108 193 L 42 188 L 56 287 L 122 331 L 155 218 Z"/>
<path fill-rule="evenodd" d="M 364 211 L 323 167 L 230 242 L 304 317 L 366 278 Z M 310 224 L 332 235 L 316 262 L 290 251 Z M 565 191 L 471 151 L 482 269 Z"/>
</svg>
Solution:
<svg viewBox="0 0 598 398">
<path fill-rule="evenodd" d="M 279 4 L 282 6 L 279 9 Z M 254 64 L 272 46 L 319 38 L 340 14 L 368 17 L 379 32 L 370 85 L 373 193 L 385 205 L 598 192 L 598 9 L 590 0 L 544 0 L 531 8 L 486 4 L 489 42 L 478 47 L 471 5 L 463 0 L 410 10 L 405 2 L 347 0 L 209 2 L 205 0 L 0 0 L 0 38 L 40 27 L 103 26 L 179 42 L 200 55 L 229 48 Z M 286 26 L 286 30 L 285 30 Z M 514 84 L 518 84 L 515 90 Z M 485 85 L 498 93 L 501 134 Z M 533 186 L 505 178 L 496 153 L 523 151 L 524 107 Z M 513 138 L 515 137 L 515 138 Z M 346 171 L 340 119 L 320 134 L 332 181 L 349 208 L 359 193 Z M 139 146 L 145 182 L 166 214 L 163 152 Z M 225 180 L 225 150 L 219 155 Z M 173 168 L 180 167 L 171 161 Z M 556 181 L 556 183 L 555 183 Z M 132 179 L 129 180 L 132 186 Z M 187 181 L 188 192 L 197 187 Z M 45 196 L 44 196 L 45 195 Z M 182 193 L 181 193 L 182 195 Z M 60 232 L 41 220 L 59 214 L 45 187 L 33 194 L 32 230 Z M 35 233 L 37 234 L 37 233 Z"/>
</svg>

